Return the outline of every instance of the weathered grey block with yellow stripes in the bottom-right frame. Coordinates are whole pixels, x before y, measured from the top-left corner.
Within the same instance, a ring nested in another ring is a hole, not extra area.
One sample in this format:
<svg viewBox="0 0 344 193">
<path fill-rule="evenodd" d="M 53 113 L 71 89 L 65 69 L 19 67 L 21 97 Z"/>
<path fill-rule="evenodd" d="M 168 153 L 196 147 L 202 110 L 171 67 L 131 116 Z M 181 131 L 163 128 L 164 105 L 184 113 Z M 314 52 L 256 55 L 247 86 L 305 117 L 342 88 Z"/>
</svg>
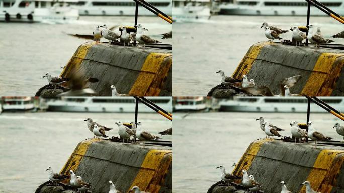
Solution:
<svg viewBox="0 0 344 193">
<path fill-rule="evenodd" d="M 318 144 L 314 149 L 313 143 L 260 139 L 249 145 L 233 174 L 247 170 L 269 193 L 281 192 L 281 181 L 292 192 L 305 192 L 300 184 L 306 180 L 315 191 L 339 193 L 344 192 L 343 162 L 344 147 Z"/>
</svg>

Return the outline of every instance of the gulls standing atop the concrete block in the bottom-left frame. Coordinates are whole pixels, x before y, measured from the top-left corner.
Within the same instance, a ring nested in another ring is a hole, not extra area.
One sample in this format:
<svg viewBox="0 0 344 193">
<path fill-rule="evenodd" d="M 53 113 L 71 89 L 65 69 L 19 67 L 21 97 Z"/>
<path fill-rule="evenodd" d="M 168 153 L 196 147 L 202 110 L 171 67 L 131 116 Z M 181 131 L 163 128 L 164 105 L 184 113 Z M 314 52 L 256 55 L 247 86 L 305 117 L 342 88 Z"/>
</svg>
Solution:
<svg viewBox="0 0 344 193">
<path fill-rule="evenodd" d="M 112 128 L 105 127 L 94 122 L 91 118 L 87 118 L 84 121 L 87 121 L 88 129 L 93 132 L 94 137 L 108 137 L 105 132 L 111 131 Z M 131 122 L 131 128 L 125 126 L 121 121 L 117 121 L 115 124 L 118 126 L 118 135 L 122 138 L 122 143 L 124 144 L 124 140 L 128 143 L 128 139 L 133 137 L 133 141 L 136 142 L 136 139 L 139 139 L 143 143 L 143 148 L 145 146 L 145 142 L 149 140 L 161 139 L 159 136 L 152 135 L 151 133 L 142 129 L 141 122 Z M 161 135 L 172 135 L 172 128 L 169 128 L 165 131 L 159 132 Z"/>
</svg>

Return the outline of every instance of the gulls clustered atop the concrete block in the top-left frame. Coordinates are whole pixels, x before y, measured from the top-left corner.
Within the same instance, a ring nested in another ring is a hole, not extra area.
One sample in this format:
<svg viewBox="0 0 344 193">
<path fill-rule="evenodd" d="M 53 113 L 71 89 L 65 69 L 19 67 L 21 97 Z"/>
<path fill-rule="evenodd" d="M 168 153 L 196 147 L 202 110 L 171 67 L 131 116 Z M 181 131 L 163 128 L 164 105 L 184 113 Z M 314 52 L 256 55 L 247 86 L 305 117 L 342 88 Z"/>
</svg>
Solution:
<svg viewBox="0 0 344 193">
<path fill-rule="evenodd" d="M 131 31 L 131 30 L 130 30 Z M 107 40 L 109 40 L 109 45 L 111 42 L 116 41 L 117 39 L 120 39 L 120 42 L 123 43 L 123 45 L 129 46 L 129 43 L 131 41 L 136 40 L 138 43 L 142 44 L 142 48 L 144 51 L 146 44 L 157 44 L 161 43 L 158 40 L 155 40 L 147 35 L 144 34 L 145 31 L 148 31 L 148 29 L 143 28 L 141 24 L 138 24 L 136 27 L 136 32 L 130 32 L 126 27 L 121 27 L 119 32 L 112 31 L 111 29 L 108 29 L 107 25 L 101 25 L 97 26 L 95 30 L 93 31 L 93 40 L 96 41 L 96 43 L 100 42 L 100 39 L 103 37 Z M 172 31 L 162 34 L 162 39 L 168 39 L 172 38 Z"/>
</svg>

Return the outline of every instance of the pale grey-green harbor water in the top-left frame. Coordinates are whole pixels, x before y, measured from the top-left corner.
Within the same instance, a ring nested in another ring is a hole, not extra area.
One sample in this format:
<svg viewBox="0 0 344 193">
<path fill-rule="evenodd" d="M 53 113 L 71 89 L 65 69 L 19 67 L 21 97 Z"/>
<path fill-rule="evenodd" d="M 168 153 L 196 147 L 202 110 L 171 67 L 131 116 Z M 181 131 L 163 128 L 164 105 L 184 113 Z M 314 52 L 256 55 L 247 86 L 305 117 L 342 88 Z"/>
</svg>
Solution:
<svg viewBox="0 0 344 193">
<path fill-rule="evenodd" d="M 34 96 L 48 83 L 42 78 L 45 73 L 59 76 L 60 67 L 67 64 L 78 46 L 92 41 L 66 33 L 92 35 L 98 25 L 133 26 L 134 19 L 135 16 L 80 16 L 78 21 L 67 24 L 0 23 L 0 96 Z M 171 31 L 172 25 L 156 16 L 139 16 L 138 23 L 149 29 L 147 35 L 171 44 L 171 39 L 162 40 L 160 34 Z"/>
</svg>

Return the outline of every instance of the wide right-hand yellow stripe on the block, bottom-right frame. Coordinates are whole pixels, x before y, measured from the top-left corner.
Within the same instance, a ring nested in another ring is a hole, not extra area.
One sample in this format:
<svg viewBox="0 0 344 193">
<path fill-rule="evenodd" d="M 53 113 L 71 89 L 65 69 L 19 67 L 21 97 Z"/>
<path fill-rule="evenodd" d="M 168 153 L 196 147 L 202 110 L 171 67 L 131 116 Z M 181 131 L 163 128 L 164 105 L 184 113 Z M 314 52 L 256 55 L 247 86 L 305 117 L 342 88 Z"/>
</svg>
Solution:
<svg viewBox="0 0 344 193">
<path fill-rule="evenodd" d="M 332 185 L 336 184 L 341 165 L 344 162 L 343 150 L 322 150 L 315 160 L 313 169 L 307 177 L 313 190 L 319 192 L 331 192 Z M 306 181 L 306 180 L 305 180 Z M 300 192 L 306 192 L 305 186 Z"/>
</svg>

